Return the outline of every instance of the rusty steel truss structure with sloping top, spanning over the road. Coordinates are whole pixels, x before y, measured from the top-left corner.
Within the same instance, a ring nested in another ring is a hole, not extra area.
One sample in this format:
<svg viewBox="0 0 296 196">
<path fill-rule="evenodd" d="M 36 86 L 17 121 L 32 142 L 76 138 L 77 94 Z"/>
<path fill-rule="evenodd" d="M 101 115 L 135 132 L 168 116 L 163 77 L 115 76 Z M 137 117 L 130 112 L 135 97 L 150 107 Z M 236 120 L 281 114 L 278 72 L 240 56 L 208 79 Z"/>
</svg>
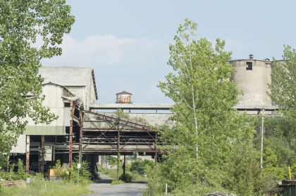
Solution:
<svg viewBox="0 0 296 196">
<path fill-rule="evenodd" d="M 150 126 L 129 119 L 97 112 L 82 111 L 81 151 L 110 152 L 124 155 L 132 152 L 157 155 L 158 134 Z"/>
</svg>

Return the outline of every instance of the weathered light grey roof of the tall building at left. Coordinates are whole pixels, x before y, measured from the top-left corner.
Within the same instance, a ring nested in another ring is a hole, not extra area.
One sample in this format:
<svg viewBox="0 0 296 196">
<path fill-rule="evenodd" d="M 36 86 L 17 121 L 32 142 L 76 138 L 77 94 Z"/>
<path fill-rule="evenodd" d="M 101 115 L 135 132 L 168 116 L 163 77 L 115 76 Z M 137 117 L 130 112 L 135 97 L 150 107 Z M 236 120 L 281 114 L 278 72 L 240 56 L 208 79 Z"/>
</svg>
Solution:
<svg viewBox="0 0 296 196">
<path fill-rule="evenodd" d="M 92 67 L 42 66 L 39 68 L 39 74 L 44 78 L 42 84 L 51 82 L 61 86 L 87 86 L 87 81 L 91 75 L 96 98 L 98 99 L 94 69 Z"/>
</svg>

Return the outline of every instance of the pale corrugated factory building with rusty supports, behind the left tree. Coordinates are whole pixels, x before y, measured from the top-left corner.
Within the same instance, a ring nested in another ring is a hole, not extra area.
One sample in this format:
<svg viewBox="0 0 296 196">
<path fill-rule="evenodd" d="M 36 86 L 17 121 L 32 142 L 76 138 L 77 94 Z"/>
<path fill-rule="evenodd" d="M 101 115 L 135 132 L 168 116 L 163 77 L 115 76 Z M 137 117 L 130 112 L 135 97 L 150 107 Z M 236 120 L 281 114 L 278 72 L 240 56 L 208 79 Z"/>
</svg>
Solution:
<svg viewBox="0 0 296 196">
<path fill-rule="evenodd" d="M 44 78 L 42 105 L 58 119 L 51 124 L 26 119 L 28 124 L 11 150 L 10 162 L 26 160 L 26 171 L 43 173 L 56 159 L 68 161 L 69 150 L 78 155 L 78 149 L 71 148 L 80 141 L 81 110 L 90 110 L 90 103 L 97 101 L 97 87 L 92 67 L 40 67 L 39 74 Z"/>
</svg>

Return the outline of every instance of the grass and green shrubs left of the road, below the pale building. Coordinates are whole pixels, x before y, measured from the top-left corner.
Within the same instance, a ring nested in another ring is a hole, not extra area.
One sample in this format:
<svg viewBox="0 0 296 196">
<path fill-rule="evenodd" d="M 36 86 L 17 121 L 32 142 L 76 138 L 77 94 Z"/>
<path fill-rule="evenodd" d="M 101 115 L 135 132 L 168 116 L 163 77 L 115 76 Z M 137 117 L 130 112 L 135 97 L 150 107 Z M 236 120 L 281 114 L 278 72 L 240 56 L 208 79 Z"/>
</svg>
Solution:
<svg viewBox="0 0 296 196">
<path fill-rule="evenodd" d="M 11 164 L 10 171 L 0 171 L 0 178 L 6 181 L 20 181 L 26 178 L 31 178 L 31 183 L 28 185 L 0 187 L 0 195 L 86 195 L 91 192 L 85 188 L 90 185 L 90 171 L 88 170 L 87 162 L 81 162 L 79 170 L 79 185 L 78 183 L 78 159 L 73 161 L 73 167 L 61 169 L 60 160 L 56 161 L 56 165 L 52 169 L 56 169 L 56 175 L 60 177 L 58 181 L 47 181 L 44 176 L 39 173 L 25 174 L 23 162 L 18 159 L 18 172 L 13 172 L 14 165 Z M 69 175 L 70 174 L 70 175 Z"/>
</svg>

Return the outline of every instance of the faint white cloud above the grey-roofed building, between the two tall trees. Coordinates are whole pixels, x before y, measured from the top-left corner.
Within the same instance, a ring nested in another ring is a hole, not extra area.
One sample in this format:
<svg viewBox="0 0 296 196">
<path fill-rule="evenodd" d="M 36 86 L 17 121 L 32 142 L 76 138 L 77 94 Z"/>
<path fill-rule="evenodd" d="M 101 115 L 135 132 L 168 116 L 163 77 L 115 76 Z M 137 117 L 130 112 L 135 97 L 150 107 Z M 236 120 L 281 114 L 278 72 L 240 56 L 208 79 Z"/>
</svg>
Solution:
<svg viewBox="0 0 296 196">
<path fill-rule="evenodd" d="M 43 65 L 99 66 L 119 64 L 141 64 L 161 53 L 166 53 L 166 44 L 158 39 L 118 38 L 111 34 L 93 35 L 84 41 L 73 39 L 70 35 L 63 38 L 63 54 Z"/>
</svg>

